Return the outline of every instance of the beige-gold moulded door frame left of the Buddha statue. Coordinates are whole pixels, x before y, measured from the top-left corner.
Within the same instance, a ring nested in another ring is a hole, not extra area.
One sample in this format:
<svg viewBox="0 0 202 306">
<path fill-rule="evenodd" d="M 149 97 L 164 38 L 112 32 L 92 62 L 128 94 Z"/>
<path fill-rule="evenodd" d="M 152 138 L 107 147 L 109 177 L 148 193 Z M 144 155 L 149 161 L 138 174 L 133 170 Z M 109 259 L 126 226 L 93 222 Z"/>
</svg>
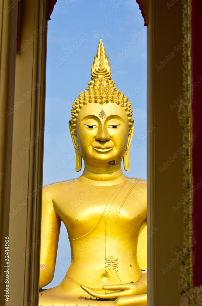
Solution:
<svg viewBox="0 0 202 306">
<path fill-rule="evenodd" d="M 13 85 L 1 91 L 4 96 L 6 90 L 12 94 L 6 97 L 8 102 L 1 100 L 5 102 L 1 112 L 5 135 L 1 146 L 5 154 L 1 159 L 2 173 L 6 173 L 1 177 L 1 305 L 20 306 L 29 302 L 38 305 L 47 3 L 23 0 L 19 4 L 1 1 L 1 5 L 5 20 L 1 32 L 3 44 L 10 43 L 7 50 L 5 45 L 2 49 L 5 52 L 1 58 L 1 84 L 5 72 L 11 71 L 5 82 L 11 81 Z M 4 67 L 6 52 L 10 59 Z M 9 236 L 9 301 L 4 300 L 5 236 Z"/>
</svg>

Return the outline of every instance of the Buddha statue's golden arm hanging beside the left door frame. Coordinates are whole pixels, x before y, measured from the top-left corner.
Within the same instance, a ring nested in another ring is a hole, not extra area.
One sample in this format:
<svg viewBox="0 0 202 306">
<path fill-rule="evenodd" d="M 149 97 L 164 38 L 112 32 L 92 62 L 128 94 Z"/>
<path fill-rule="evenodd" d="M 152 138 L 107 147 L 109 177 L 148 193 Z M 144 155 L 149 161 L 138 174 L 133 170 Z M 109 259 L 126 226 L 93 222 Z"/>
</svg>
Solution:
<svg viewBox="0 0 202 306">
<path fill-rule="evenodd" d="M 61 225 L 49 189 L 49 186 L 44 187 L 42 192 L 39 288 L 48 285 L 53 279 Z"/>
</svg>

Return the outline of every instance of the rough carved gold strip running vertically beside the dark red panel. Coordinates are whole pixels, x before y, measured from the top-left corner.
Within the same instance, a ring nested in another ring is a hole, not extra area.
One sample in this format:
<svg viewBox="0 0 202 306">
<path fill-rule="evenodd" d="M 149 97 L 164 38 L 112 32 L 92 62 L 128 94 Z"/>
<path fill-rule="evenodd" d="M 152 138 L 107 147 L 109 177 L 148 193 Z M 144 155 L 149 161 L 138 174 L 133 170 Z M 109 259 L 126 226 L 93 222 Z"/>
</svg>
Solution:
<svg viewBox="0 0 202 306">
<path fill-rule="evenodd" d="M 182 125 L 184 144 L 183 194 L 187 197 L 184 206 L 184 245 L 187 250 L 181 256 L 180 266 L 180 293 L 186 293 L 193 284 L 192 280 L 192 113 L 191 113 L 191 26 L 190 0 L 182 0 L 182 34 L 184 47 L 182 50 L 183 85 L 178 110 L 179 122 Z M 186 144 L 186 145 L 185 145 Z M 195 304 L 194 304 L 195 305 Z"/>
</svg>

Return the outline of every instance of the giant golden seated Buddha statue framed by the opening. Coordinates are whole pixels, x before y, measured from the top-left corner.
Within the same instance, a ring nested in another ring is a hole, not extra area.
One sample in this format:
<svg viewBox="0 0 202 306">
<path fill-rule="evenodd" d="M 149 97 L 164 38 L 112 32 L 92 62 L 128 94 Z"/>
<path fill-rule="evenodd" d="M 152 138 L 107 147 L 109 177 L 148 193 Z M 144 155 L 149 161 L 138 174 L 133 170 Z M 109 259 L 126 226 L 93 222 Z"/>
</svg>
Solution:
<svg viewBox="0 0 202 306">
<path fill-rule="evenodd" d="M 41 290 L 39 305 L 146 306 L 146 181 L 121 170 L 122 159 L 130 170 L 132 108 L 114 87 L 102 39 L 91 79 L 69 121 L 75 170 L 83 159 L 84 171 L 43 188 L 40 288 L 53 279 L 61 220 L 72 261 L 60 285 Z"/>
</svg>

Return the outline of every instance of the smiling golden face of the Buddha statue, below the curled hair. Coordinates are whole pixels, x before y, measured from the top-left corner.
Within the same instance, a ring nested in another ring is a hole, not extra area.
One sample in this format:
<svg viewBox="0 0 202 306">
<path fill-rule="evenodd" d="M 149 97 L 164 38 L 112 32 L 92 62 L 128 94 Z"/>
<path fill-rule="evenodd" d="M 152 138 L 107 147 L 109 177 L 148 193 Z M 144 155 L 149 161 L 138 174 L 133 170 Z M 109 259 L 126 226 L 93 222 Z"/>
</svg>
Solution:
<svg viewBox="0 0 202 306">
<path fill-rule="evenodd" d="M 128 123 L 126 111 L 120 105 L 84 105 L 77 117 L 77 136 L 73 136 L 84 161 L 97 168 L 118 165 L 132 138 L 128 136 Z"/>
</svg>

